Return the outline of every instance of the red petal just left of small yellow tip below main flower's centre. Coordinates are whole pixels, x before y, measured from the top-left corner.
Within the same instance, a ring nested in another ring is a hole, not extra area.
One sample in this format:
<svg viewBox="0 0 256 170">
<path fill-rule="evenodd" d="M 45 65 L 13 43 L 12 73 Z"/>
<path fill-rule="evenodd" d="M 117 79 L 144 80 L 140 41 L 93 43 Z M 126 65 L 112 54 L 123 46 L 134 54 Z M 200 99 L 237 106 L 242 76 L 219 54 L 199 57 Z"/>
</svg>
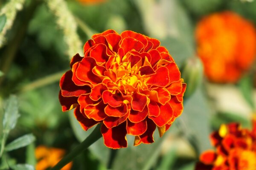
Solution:
<svg viewBox="0 0 256 170">
<path fill-rule="evenodd" d="M 109 91 L 104 91 L 102 93 L 102 99 L 105 104 L 108 104 L 112 107 L 119 107 L 123 104 L 124 101 L 121 94 L 112 94 Z"/>
</svg>

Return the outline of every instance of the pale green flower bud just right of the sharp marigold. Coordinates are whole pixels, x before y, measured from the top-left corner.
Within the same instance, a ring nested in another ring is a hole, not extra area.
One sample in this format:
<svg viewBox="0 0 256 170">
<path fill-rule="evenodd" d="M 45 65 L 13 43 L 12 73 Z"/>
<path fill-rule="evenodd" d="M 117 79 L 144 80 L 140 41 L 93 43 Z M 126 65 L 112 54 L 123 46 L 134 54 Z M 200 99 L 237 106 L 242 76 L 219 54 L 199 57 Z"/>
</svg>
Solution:
<svg viewBox="0 0 256 170">
<path fill-rule="evenodd" d="M 181 68 L 181 75 L 184 82 L 187 83 L 184 98 L 188 98 L 195 92 L 202 80 L 203 65 L 201 60 L 198 57 L 186 59 Z"/>
</svg>

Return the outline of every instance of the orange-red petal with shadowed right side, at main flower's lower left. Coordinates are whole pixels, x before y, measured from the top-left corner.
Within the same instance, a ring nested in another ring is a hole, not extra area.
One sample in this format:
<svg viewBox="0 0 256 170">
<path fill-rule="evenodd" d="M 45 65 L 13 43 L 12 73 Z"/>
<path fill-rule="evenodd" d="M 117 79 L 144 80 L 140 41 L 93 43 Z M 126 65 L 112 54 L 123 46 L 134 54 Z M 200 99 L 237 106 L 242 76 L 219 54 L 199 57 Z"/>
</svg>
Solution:
<svg viewBox="0 0 256 170">
<path fill-rule="evenodd" d="M 104 108 L 106 105 L 101 101 L 96 105 L 87 105 L 84 107 L 84 114 L 89 119 L 94 119 L 95 121 L 102 121 L 107 117 Z"/>
</svg>

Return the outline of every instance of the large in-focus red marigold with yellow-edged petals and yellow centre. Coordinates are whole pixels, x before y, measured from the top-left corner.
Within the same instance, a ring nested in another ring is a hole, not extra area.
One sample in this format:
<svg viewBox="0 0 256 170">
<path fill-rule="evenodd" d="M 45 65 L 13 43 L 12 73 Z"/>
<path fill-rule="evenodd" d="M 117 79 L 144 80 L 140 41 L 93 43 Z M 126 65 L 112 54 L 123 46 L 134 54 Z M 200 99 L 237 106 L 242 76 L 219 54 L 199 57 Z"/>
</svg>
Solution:
<svg viewBox="0 0 256 170">
<path fill-rule="evenodd" d="M 156 39 L 133 31 L 95 34 L 60 80 L 63 111 L 75 108 L 84 130 L 101 123 L 104 144 L 127 147 L 154 142 L 183 110 L 186 84 L 169 52 Z"/>
</svg>

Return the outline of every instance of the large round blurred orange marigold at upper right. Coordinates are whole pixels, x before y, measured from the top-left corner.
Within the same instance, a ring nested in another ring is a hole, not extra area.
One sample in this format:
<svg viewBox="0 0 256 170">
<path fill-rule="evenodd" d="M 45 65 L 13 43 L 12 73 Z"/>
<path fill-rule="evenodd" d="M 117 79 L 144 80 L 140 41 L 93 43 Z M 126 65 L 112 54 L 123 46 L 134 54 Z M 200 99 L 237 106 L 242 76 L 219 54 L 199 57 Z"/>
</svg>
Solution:
<svg viewBox="0 0 256 170">
<path fill-rule="evenodd" d="M 256 56 L 253 24 L 231 11 L 204 17 L 195 38 L 204 73 L 212 82 L 237 82 Z"/>
</svg>

